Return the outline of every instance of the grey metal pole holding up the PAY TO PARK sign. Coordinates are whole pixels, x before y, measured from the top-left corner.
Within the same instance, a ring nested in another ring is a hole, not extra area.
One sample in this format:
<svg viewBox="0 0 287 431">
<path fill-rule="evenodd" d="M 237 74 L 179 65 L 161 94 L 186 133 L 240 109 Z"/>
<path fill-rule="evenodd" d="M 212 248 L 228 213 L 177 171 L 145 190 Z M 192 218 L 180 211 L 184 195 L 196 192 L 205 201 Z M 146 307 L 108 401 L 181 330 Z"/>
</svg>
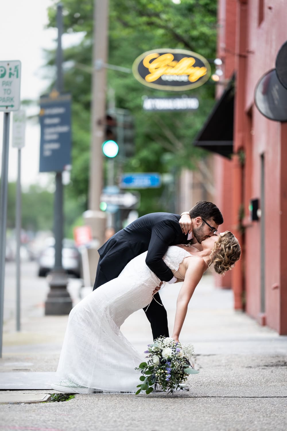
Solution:
<svg viewBox="0 0 287 431">
<path fill-rule="evenodd" d="M 4 112 L 0 190 L 0 358 L 2 358 L 10 112 Z"/>
</svg>

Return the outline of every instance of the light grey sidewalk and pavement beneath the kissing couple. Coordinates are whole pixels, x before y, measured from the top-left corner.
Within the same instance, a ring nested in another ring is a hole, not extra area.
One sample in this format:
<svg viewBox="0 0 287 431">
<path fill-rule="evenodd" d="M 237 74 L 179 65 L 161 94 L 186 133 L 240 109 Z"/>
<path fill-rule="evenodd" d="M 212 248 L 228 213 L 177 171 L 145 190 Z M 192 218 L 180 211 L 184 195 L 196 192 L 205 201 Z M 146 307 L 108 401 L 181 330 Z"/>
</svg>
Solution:
<svg viewBox="0 0 287 431">
<path fill-rule="evenodd" d="M 22 328 L 16 332 L 13 265 L 6 265 L 0 373 L 55 372 L 68 316 L 44 316 L 47 282 L 37 278 L 34 263 L 27 262 L 22 269 Z M 160 293 L 170 330 L 180 286 L 167 285 Z M 68 290 L 77 303 L 80 282 L 71 279 Z M 130 316 L 121 329 L 139 351 L 151 341 L 142 310 Z M 0 430 L 287 429 L 287 336 L 279 336 L 244 313 L 235 312 L 232 292 L 216 289 L 210 274 L 202 278 L 194 292 L 180 340 L 194 344 L 194 366 L 200 370 L 189 377 L 189 392 L 78 394 L 59 403 L 3 404 Z M 17 392 L 31 395 L 55 391 Z"/>
</svg>

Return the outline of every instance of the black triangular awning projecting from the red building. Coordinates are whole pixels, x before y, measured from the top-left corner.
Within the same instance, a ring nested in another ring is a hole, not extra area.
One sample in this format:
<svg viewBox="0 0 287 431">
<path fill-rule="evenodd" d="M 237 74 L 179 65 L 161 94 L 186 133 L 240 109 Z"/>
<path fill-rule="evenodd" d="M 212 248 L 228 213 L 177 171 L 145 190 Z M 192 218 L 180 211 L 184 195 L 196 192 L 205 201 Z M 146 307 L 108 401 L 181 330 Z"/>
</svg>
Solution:
<svg viewBox="0 0 287 431">
<path fill-rule="evenodd" d="M 234 80 L 216 102 L 193 145 L 230 157 L 233 152 Z"/>
</svg>

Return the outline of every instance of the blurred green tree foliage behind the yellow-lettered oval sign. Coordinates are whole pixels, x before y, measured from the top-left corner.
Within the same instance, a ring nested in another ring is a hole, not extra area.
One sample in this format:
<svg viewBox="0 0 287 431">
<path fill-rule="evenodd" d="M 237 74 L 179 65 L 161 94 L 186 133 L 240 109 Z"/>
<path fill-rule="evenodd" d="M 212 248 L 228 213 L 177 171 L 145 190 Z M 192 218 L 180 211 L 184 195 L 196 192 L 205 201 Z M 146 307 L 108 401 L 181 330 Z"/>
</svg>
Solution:
<svg viewBox="0 0 287 431">
<path fill-rule="evenodd" d="M 49 26 L 56 23 L 56 3 L 49 8 Z M 80 44 L 65 50 L 65 91 L 73 98 L 73 169 L 71 193 L 87 198 L 90 151 L 91 55 L 93 44 L 93 0 L 63 0 L 64 28 L 85 32 Z M 153 48 L 193 50 L 207 59 L 216 52 L 216 2 L 213 0 L 110 0 L 108 62 L 131 68 L 134 59 Z M 49 53 L 48 65 L 55 54 Z M 51 83 L 52 88 L 53 83 Z M 195 169 L 203 150 L 191 145 L 214 100 L 214 86 L 204 84 L 188 94 L 197 96 L 200 107 L 191 112 L 145 112 L 142 96 L 167 96 L 139 84 L 131 74 L 108 70 L 108 88 L 116 106 L 129 109 L 135 117 L 136 154 L 127 159 L 125 172 L 178 172 Z M 169 92 L 168 96 L 174 94 Z M 165 157 L 170 153 L 172 157 Z M 167 162 L 168 160 L 168 162 Z M 162 189 L 141 192 L 140 213 L 168 210 L 160 197 Z"/>
</svg>

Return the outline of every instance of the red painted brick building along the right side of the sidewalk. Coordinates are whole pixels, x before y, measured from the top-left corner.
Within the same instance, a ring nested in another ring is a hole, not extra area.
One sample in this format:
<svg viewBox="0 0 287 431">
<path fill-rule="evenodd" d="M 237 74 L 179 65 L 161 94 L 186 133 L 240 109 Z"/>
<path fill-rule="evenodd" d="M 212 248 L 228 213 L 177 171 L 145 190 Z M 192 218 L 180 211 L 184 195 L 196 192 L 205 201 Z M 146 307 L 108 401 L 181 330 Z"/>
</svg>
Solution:
<svg viewBox="0 0 287 431">
<path fill-rule="evenodd" d="M 219 101 L 195 142 L 221 154 L 214 156 L 215 202 L 222 228 L 237 234 L 243 250 L 218 285 L 231 284 L 235 309 L 279 334 L 287 334 L 287 123 L 263 116 L 254 91 L 287 40 L 286 6 L 285 0 L 219 0 Z M 250 219 L 254 199 L 257 221 Z"/>
</svg>

